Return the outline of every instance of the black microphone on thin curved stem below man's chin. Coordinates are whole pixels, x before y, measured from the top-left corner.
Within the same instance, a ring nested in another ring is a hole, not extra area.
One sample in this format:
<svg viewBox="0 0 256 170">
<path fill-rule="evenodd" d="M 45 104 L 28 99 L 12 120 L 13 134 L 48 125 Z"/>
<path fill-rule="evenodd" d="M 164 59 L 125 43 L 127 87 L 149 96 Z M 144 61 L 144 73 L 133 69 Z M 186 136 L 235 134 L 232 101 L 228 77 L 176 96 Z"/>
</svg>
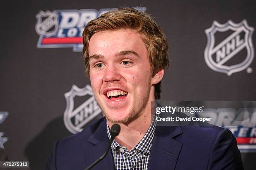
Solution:
<svg viewBox="0 0 256 170">
<path fill-rule="evenodd" d="M 103 155 L 101 155 L 101 157 L 97 160 L 95 160 L 90 166 L 88 166 L 85 170 L 90 170 L 92 167 L 94 167 L 98 162 L 100 162 L 100 160 L 102 160 L 103 158 L 105 158 L 105 156 L 107 155 L 109 148 L 111 147 L 111 144 L 113 143 L 113 140 L 115 139 L 115 137 L 120 133 L 120 125 L 118 124 L 114 124 L 112 125 L 111 129 L 110 129 L 110 141 L 108 143 L 107 149 L 105 151 L 105 153 L 103 153 Z"/>
</svg>

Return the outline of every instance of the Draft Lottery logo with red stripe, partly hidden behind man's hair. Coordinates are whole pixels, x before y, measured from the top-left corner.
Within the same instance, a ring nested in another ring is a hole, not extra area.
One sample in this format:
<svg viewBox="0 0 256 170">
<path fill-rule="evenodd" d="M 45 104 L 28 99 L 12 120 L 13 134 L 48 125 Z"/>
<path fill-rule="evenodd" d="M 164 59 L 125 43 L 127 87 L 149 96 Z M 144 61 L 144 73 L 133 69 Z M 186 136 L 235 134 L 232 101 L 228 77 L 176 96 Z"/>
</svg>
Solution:
<svg viewBox="0 0 256 170">
<path fill-rule="evenodd" d="M 133 7 L 146 11 L 146 7 Z M 40 35 L 38 48 L 73 47 L 74 52 L 81 52 L 83 47 L 82 32 L 85 25 L 103 13 L 116 8 L 84 10 L 40 11 L 36 15 L 36 32 Z"/>
</svg>

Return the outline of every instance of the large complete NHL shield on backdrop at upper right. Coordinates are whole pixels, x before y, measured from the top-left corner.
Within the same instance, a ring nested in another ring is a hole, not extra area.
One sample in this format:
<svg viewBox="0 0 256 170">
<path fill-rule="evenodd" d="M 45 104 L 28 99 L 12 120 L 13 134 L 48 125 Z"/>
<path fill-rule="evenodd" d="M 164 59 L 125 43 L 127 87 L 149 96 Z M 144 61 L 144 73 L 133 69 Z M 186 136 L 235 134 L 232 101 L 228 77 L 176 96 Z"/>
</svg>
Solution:
<svg viewBox="0 0 256 170">
<path fill-rule="evenodd" d="M 207 35 L 206 64 L 212 70 L 226 73 L 228 76 L 245 70 L 254 57 L 253 30 L 246 20 L 238 24 L 231 20 L 225 24 L 214 21 L 211 28 L 205 30 Z M 222 36 L 220 36 L 221 33 Z"/>
</svg>

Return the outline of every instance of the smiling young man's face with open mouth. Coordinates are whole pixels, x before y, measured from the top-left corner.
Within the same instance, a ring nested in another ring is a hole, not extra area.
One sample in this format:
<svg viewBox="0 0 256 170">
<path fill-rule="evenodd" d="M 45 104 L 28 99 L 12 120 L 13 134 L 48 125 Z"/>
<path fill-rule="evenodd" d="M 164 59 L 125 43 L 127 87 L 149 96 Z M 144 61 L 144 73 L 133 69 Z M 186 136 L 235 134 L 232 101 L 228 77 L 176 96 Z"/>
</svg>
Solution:
<svg viewBox="0 0 256 170">
<path fill-rule="evenodd" d="M 90 39 L 89 56 L 92 89 L 107 120 L 128 123 L 154 100 L 148 53 L 138 33 L 97 32 Z"/>
</svg>

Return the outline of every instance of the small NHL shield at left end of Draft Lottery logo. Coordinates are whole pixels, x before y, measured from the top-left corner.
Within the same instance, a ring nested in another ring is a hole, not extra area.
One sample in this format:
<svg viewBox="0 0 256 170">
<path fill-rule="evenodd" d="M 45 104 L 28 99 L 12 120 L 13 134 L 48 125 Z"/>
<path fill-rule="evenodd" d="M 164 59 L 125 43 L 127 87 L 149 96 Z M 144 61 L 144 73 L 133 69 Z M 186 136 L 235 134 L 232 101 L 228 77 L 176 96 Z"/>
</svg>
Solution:
<svg viewBox="0 0 256 170">
<path fill-rule="evenodd" d="M 39 35 L 50 37 L 56 33 L 59 28 L 58 15 L 51 11 L 40 11 L 36 15 L 36 32 Z"/>
</svg>

